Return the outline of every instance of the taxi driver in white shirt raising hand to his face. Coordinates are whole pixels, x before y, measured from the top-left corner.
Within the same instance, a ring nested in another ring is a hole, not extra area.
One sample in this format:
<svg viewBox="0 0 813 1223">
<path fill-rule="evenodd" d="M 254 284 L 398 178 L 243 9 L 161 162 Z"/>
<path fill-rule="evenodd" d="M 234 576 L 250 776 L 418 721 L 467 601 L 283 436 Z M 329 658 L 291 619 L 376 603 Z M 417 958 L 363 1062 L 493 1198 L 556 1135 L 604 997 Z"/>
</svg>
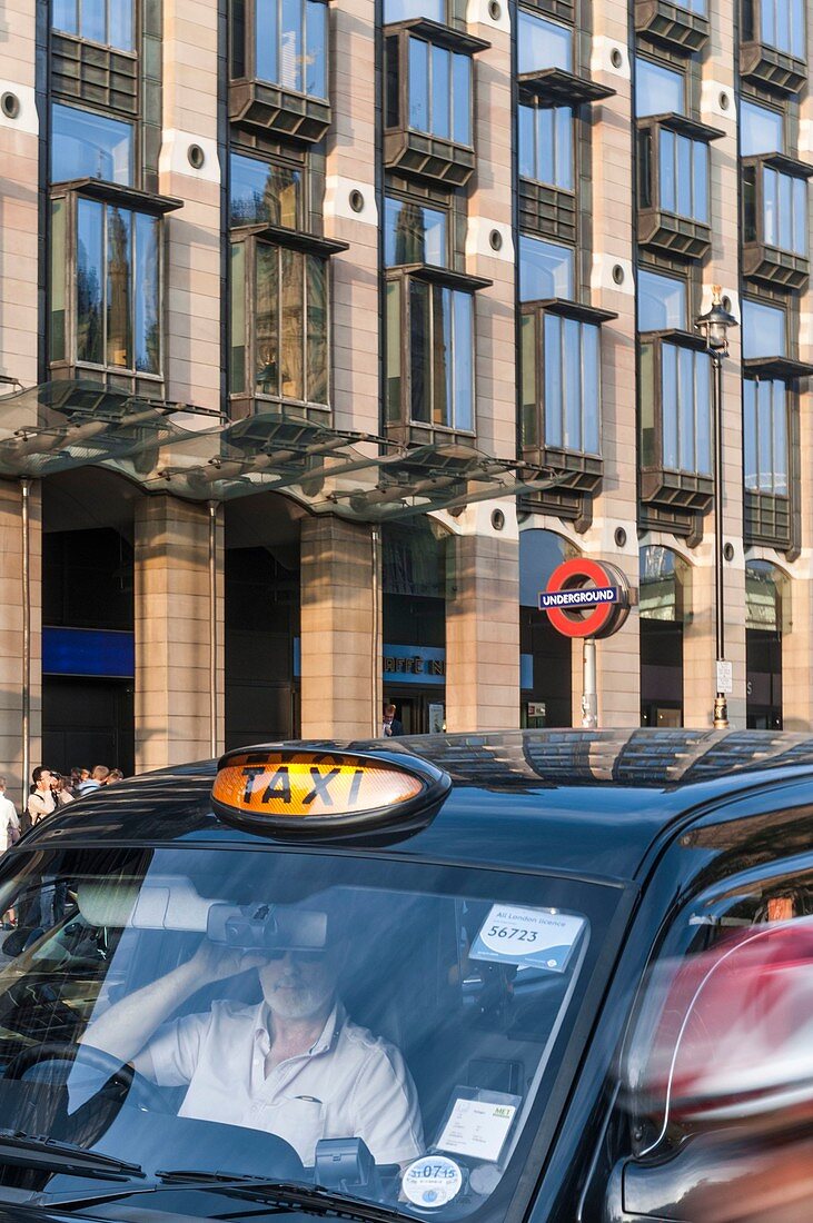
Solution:
<svg viewBox="0 0 813 1223">
<path fill-rule="evenodd" d="M 337 926 L 330 906 L 328 923 Z M 185 964 L 110 1007 L 83 1043 L 159 1086 L 186 1085 L 178 1115 L 276 1134 L 304 1164 L 322 1137 L 361 1137 L 377 1163 L 407 1163 L 423 1150 L 414 1085 L 399 1049 L 348 1019 L 337 996 L 345 950 L 341 937 L 258 951 L 204 938 Z M 170 1020 L 202 987 L 248 969 L 259 1005 L 215 1000 Z"/>
</svg>

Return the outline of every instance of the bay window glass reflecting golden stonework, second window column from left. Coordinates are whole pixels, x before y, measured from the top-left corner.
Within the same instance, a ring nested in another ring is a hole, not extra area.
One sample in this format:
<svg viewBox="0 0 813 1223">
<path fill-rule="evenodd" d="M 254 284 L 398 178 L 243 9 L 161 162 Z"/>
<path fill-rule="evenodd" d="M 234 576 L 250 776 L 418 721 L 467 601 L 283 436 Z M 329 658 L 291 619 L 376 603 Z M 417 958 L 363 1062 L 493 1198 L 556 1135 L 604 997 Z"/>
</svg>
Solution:
<svg viewBox="0 0 813 1223">
<path fill-rule="evenodd" d="M 301 251 L 258 242 L 254 280 L 252 377 L 256 394 L 326 405 L 326 262 Z M 232 285 L 232 294 L 240 289 L 240 283 Z M 235 338 L 241 339 L 232 325 L 232 355 Z"/>
</svg>

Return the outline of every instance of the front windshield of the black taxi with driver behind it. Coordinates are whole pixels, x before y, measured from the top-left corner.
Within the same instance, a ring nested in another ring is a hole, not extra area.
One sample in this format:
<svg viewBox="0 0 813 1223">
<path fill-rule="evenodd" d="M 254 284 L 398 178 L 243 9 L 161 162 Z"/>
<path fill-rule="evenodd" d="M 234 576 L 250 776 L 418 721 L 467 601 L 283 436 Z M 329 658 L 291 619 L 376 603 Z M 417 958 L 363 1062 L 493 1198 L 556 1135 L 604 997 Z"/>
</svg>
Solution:
<svg viewBox="0 0 813 1223">
<path fill-rule="evenodd" d="M 76 1191 L 43 1157 L 70 1145 L 98 1155 L 97 1188 L 104 1157 L 149 1185 L 253 1177 L 505 1214 L 617 889 L 280 846 L 15 857 L 0 1147 L 53 1141 L 0 1150 L 0 1205 Z"/>
</svg>

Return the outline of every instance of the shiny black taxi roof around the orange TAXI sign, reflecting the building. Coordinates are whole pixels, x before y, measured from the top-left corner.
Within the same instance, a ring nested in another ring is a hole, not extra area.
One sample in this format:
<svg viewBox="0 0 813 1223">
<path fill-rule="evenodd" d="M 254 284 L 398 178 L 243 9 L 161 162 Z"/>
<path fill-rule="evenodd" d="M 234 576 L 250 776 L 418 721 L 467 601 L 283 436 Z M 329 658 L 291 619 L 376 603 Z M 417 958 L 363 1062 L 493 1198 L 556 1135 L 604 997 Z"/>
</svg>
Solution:
<svg viewBox="0 0 813 1223">
<path fill-rule="evenodd" d="M 658 838 L 692 812 L 782 780 L 813 781 L 813 736 L 786 731 L 524 730 L 273 746 L 419 756 L 443 768 L 452 789 L 425 828 L 390 829 L 383 849 L 370 839 L 388 856 L 599 879 L 635 878 Z M 275 843 L 218 819 L 215 772 L 205 761 L 120 781 L 57 811 L 22 848 Z M 302 843 L 364 848 L 363 835 L 286 840 Z"/>
</svg>

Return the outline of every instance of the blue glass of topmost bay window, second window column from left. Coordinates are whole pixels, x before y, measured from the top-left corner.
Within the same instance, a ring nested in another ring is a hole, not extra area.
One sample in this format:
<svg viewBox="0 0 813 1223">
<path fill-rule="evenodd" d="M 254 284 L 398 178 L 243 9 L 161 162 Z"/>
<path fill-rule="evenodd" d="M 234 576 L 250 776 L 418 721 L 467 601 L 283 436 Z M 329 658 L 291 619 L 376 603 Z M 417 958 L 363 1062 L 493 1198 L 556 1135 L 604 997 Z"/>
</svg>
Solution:
<svg viewBox="0 0 813 1223">
<path fill-rule="evenodd" d="M 257 77 L 328 97 L 328 10 L 319 0 L 256 0 Z"/>
</svg>

